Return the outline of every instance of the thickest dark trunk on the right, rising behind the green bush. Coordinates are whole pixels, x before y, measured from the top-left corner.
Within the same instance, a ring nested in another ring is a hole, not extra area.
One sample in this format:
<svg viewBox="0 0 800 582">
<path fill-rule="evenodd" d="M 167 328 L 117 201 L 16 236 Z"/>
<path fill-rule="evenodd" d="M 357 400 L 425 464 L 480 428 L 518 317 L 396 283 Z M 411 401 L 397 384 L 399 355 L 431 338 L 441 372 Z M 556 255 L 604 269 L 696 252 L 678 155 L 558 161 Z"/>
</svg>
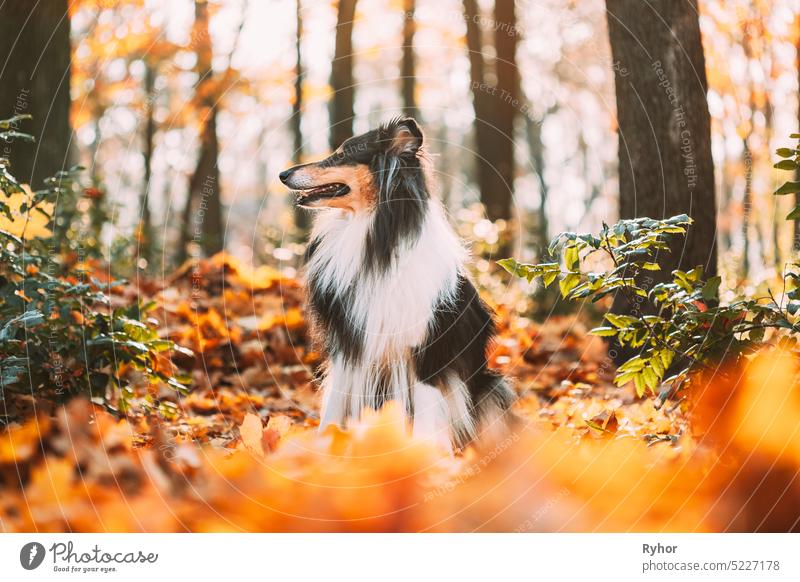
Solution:
<svg viewBox="0 0 800 582">
<path fill-rule="evenodd" d="M 697 265 L 713 275 L 716 201 L 697 1 L 607 0 L 606 6 L 617 63 L 620 217 L 688 214 L 694 220 L 688 237 L 658 257 L 657 275 Z"/>
</svg>

